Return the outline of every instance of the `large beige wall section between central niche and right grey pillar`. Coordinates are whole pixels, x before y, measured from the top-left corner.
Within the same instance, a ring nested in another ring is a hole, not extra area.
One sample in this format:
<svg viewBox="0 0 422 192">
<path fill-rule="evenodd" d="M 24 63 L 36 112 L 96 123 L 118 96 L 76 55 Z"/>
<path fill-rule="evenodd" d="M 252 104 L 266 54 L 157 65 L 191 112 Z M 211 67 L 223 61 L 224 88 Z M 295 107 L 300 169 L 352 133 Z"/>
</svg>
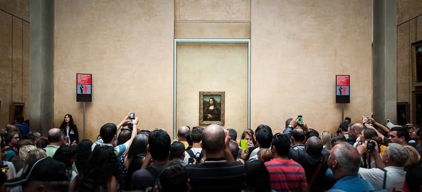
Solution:
<svg viewBox="0 0 422 192">
<path fill-rule="evenodd" d="M 341 122 L 335 75 L 351 75 L 345 116 L 371 114 L 371 4 L 353 1 L 253 0 L 251 127 L 274 133 L 300 114 L 309 127 Z"/>
</svg>

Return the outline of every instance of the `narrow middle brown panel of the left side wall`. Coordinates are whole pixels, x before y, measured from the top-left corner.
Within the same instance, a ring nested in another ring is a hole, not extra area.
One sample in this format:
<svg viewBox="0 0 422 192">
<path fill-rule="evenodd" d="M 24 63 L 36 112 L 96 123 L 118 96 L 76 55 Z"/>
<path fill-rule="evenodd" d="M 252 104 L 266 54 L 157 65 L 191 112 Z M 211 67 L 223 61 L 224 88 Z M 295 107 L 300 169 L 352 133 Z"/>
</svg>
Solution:
<svg viewBox="0 0 422 192">
<path fill-rule="evenodd" d="M 12 101 L 22 102 L 22 20 L 13 17 L 13 74 L 12 74 Z"/>
</svg>

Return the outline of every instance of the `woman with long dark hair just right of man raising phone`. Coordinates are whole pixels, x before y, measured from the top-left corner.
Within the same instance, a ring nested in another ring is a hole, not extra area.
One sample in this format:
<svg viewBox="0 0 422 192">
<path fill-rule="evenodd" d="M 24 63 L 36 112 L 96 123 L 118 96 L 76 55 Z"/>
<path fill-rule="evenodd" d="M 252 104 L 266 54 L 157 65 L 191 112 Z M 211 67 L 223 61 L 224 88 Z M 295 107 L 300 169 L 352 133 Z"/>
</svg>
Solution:
<svg viewBox="0 0 422 192">
<path fill-rule="evenodd" d="M 132 175 L 141 169 L 141 164 L 146 155 L 148 136 L 137 135 L 129 148 L 128 154 L 119 158 L 119 184 L 120 188 L 130 191 L 132 186 Z"/>
</svg>

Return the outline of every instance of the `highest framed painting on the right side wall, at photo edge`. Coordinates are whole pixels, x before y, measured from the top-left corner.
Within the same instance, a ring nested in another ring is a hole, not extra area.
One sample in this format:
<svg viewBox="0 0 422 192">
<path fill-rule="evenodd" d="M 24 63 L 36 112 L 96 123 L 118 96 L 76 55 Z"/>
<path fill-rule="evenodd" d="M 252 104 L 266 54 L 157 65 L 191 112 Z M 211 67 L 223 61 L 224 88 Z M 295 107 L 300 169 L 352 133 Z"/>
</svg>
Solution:
<svg viewBox="0 0 422 192">
<path fill-rule="evenodd" d="M 413 86 L 422 86 L 422 41 L 413 43 L 411 47 Z"/>
</svg>

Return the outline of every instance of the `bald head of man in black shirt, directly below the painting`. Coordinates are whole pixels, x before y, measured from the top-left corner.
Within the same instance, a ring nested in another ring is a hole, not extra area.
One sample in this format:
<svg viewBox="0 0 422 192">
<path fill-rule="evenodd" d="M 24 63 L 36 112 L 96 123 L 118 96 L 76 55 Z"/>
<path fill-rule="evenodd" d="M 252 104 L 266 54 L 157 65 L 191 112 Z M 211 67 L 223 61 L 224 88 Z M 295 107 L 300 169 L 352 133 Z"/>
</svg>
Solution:
<svg viewBox="0 0 422 192">
<path fill-rule="evenodd" d="M 224 129 L 216 124 L 207 126 L 202 132 L 202 148 L 207 153 L 216 154 L 224 150 Z"/>
</svg>

